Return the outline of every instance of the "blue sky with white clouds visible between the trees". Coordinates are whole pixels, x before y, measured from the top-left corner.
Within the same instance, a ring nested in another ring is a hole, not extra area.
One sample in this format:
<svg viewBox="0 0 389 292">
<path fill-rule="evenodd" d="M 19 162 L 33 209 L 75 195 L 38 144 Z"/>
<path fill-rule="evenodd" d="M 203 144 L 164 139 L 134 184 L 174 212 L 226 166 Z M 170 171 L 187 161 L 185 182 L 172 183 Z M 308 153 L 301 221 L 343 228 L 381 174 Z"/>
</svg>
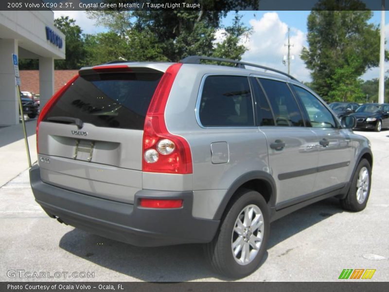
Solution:
<svg viewBox="0 0 389 292">
<path fill-rule="evenodd" d="M 162 12 L 163 13 L 163 12 Z M 306 41 L 307 17 L 310 11 L 241 11 L 242 22 L 252 28 L 252 34 L 242 42 L 247 46 L 248 51 L 243 55 L 242 60 L 250 63 L 261 64 L 274 69 L 287 72 L 287 67 L 283 65 L 283 56 L 287 55 L 287 31 L 290 27 L 291 55 L 291 75 L 301 81 L 311 81 L 310 72 L 305 68 L 304 62 L 300 58 L 303 47 L 308 47 Z M 84 33 L 94 34 L 104 32 L 104 27 L 96 26 L 94 20 L 87 18 L 84 11 L 54 11 L 54 17 L 69 16 L 76 20 L 76 24 L 81 27 Z M 223 25 L 229 25 L 234 17 L 234 12 L 228 14 L 223 19 Z M 375 25 L 381 23 L 381 11 L 373 11 L 370 22 Z M 385 36 L 389 39 L 389 11 L 385 13 Z M 217 39 L 222 38 L 221 32 Z M 386 44 L 389 50 L 389 43 Z M 389 62 L 385 63 L 385 71 L 389 70 Z M 361 76 L 364 80 L 379 77 L 379 69 L 372 68 Z"/>
</svg>

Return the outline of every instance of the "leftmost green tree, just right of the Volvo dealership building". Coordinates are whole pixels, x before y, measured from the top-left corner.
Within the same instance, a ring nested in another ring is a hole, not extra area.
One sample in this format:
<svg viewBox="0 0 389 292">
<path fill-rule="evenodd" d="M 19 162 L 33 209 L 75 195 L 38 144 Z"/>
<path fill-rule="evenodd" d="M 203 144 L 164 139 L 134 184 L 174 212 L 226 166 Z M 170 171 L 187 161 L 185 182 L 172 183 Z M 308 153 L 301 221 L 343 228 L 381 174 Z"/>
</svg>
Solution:
<svg viewBox="0 0 389 292">
<path fill-rule="evenodd" d="M 66 37 L 65 60 L 55 60 L 55 69 L 79 69 L 85 65 L 85 46 L 81 28 L 75 20 L 61 16 L 54 19 L 54 25 Z"/>
</svg>

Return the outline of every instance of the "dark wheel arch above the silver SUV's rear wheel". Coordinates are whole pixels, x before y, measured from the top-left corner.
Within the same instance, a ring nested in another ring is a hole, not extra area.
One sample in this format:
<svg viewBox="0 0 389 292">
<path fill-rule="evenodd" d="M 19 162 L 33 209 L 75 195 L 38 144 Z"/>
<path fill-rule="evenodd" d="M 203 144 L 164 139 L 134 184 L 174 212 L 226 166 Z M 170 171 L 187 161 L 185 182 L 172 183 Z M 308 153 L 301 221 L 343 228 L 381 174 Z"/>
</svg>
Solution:
<svg viewBox="0 0 389 292">
<path fill-rule="evenodd" d="M 234 199 L 236 191 L 240 188 L 258 191 L 264 197 L 271 215 L 271 208 L 273 208 L 276 203 L 276 183 L 272 176 L 265 171 L 250 171 L 238 177 L 230 185 L 230 188 L 227 190 L 223 200 L 217 208 L 213 219 L 219 220 L 222 218 L 227 206 L 230 201 Z"/>
</svg>

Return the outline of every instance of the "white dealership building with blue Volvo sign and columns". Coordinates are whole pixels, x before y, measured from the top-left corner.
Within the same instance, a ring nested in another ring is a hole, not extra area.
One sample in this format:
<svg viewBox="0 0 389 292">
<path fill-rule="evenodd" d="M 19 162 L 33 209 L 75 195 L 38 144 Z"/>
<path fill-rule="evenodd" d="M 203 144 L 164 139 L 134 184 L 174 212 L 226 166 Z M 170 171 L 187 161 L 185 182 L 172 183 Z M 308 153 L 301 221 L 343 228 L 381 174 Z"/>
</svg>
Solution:
<svg viewBox="0 0 389 292">
<path fill-rule="evenodd" d="M 0 11 L 0 126 L 19 124 L 12 54 L 39 60 L 42 107 L 54 93 L 54 59 L 65 59 L 65 36 L 54 27 L 53 11 Z"/>
</svg>

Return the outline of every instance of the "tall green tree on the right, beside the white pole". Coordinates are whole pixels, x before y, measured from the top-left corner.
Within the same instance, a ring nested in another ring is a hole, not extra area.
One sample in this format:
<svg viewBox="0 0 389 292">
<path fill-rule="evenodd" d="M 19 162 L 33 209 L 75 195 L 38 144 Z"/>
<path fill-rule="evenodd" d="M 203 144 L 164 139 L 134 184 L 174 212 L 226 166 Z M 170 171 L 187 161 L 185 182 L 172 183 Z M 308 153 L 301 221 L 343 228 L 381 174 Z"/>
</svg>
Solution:
<svg viewBox="0 0 389 292">
<path fill-rule="evenodd" d="M 324 98 L 352 99 L 345 96 L 359 94 L 357 78 L 378 66 L 380 34 L 377 26 L 368 23 L 371 17 L 359 0 L 320 0 L 308 16 L 309 48 L 303 48 L 301 58 L 312 71 L 314 89 Z M 340 85 L 342 90 L 337 88 Z M 340 93 L 346 95 L 335 96 Z"/>
</svg>

